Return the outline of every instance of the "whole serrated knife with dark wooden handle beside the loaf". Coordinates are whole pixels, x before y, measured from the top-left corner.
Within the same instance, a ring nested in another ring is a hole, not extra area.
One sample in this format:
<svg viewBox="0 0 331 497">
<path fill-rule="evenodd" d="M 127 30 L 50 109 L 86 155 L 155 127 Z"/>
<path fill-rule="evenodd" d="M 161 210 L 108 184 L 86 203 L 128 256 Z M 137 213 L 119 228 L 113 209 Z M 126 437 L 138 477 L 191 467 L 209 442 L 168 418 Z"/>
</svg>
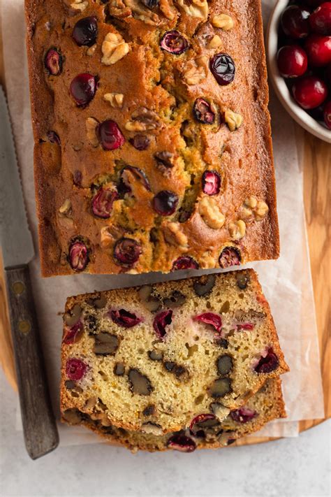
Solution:
<svg viewBox="0 0 331 497">
<path fill-rule="evenodd" d="M 17 168 L 5 94 L 0 85 L 0 240 L 6 275 L 24 442 L 31 459 L 59 445 L 38 333 L 29 261 L 34 245 Z"/>
</svg>

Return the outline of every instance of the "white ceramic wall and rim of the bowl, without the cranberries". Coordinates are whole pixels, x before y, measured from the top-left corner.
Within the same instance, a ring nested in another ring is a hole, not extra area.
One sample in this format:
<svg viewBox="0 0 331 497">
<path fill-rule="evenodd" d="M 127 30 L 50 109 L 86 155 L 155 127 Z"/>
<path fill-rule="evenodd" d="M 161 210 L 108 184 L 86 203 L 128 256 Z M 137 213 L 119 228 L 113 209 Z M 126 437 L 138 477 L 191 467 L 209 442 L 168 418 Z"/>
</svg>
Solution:
<svg viewBox="0 0 331 497">
<path fill-rule="evenodd" d="M 278 43 L 278 27 L 281 18 L 281 13 L 288 5 L 288 0 L 278 0 L 272 14 L 270 16 L 269 25 L 267 27 L 267 64 L 269 76 L 279 100 L 286 108 L 293 119 L 307 129 L 309 133 L 321 138 L 328 143 L 331 143 L 331 130 L 323 127 L 319 122 L 314 120 L 305 110 L 303 110 L 293 99 L 290 90 L 286 86 L 284 78 L 280 75 L 277 66 L 277 43 Z"/>
</svg>

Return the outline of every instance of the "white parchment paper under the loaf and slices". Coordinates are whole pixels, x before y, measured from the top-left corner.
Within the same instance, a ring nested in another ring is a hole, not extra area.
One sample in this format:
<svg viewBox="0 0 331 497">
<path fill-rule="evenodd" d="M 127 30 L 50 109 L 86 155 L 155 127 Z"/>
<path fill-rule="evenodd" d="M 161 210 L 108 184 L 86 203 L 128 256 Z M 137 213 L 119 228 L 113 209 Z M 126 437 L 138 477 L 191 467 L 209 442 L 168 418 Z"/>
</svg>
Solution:
<svg viewBox="0 0 331 497">
<path fill-rule="evenodd" d="M 265 0 L 265 20 L 274 0 Z M 24 45 L 24 0 L 2 0 L 3 55 L 8 104 L 13 122 L 17 157 L 22 175 L 24 199 L 36 251 L 37 219 L 33 178 L 33 138 L 30 121 L 27 59 Z M 277 199 L 281 232 L 278 261 L 252 264 L 260 275 L 270 301 L 290 373 L 283 376 L 288 418 L 263 428 L 263 435 L 295 436 L 300 419 L 323 418 L 323 392 L 311 284 L 307 236 L 302 199 L 302 171 L 297 157 L 294 127 L 280 103 L 271 95 L 272 136 L 277 175 Z M 300 145 L 300 144 L 299 144 Z M 36 300 L 41 340 L 50 382 L 54 410 L 59 416 L 59 366 L 62 319 L 66 296 L 87 291 L 155 282 L 183 275 L 157 273 L 113 276 L 62 276 L 41 278 L 38 254 L 31 262 L 31 278 Z M 186 272 L 189 275 L 189 271 Z M 17 428 L 20 428 L 17 421 Z M 59 425 L 61 445 L 97 442 L 83 429 Z"/>
</svg>

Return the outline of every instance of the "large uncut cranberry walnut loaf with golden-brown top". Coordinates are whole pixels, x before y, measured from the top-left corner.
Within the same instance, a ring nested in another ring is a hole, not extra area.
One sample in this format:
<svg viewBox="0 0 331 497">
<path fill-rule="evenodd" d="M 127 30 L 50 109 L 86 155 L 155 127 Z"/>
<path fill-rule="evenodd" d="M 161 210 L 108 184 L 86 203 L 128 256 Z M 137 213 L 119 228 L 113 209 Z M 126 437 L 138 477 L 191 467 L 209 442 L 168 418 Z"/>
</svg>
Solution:
<svg viewBox="0 0 331 497">
<path fill-rule="evenodd" d="M 26 0 L 45 276 L 279 255 L 260 0 Z"/>
</svg>

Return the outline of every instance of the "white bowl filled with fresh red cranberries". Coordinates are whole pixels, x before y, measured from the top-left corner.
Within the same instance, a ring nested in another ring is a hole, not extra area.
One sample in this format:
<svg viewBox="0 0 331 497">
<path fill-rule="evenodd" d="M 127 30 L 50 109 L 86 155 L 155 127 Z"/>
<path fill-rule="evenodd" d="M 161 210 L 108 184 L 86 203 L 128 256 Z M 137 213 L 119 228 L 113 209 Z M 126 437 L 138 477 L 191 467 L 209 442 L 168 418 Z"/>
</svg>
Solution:
<svg viewBox="0 0 331 497">
<path fill-rule="evenodd" d="M 331 143 L 331 1 L 279 0 L 270 17 L 267 58 L 288 113 Z"/>
</svg>

